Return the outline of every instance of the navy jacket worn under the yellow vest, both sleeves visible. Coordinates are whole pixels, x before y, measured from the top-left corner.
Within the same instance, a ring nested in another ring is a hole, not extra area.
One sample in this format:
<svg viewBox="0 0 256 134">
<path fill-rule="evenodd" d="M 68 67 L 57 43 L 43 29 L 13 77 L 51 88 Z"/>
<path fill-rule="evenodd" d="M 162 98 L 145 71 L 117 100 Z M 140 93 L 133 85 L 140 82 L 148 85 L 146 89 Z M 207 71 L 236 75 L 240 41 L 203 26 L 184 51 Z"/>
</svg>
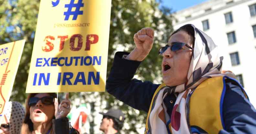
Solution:
<svg viewBox="0 0 256 134">
<path fill-rule="evenodd" d="M 140 62 L 122 59 L 124 54 L 129 53 L 115 54 L 106 90 L 134 109 L 148 112 L 151 99 L 160 84 L 133 79 Z M 169 99 L 176 101 L 174 95 Z M 167 111 L 172 111 L 173 104 L 167 106 Z M 226 81 L 222 114 L 225 128 L 219 134 L 256 134 L 256 110 L 244 97 L 240 87 L 232 81 Z"/>
</svg>

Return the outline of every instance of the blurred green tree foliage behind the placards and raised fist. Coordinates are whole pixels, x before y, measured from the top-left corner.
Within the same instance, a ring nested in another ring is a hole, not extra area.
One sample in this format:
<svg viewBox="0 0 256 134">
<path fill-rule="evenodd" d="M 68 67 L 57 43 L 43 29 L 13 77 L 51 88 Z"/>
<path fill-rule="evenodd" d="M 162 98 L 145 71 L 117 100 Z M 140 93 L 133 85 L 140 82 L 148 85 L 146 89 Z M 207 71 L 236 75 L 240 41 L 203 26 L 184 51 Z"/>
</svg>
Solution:
<svg viewBox="0 0 256 134">
<path fill-rule="evenodd" d="M 0 0 L 0 44 L 20 39 L 26 39 L 20 65 L 15 79 L 11 95 L 12 101 L 25 102 L 28 70 L 34 43 L 34 35 L 39 10 L 39 0 Z M 161 82 L 161 61 L 158 56 L 160 46 L 168 42 L 169 35 L 173 31 L 171 10 L 165 7 L 159 9 L 159 3 L 155 0 L 112 0 L 111 24 L 108 50 L 107 76 L 110 72 L 114 53 L 117 50 L 130 52 L 135 47 L 133 35 L 143 27 L 152 27 L 155 30 L 153 48 L 137 70 L 137 77 L 143 81 Z M 120 108 L 126 114 L 125 122 L 128 127 L 123 129 L 125 133 L 138 133 L 138 128 L 144 128 L 146 113 L 117 101 L 107 92 L 72 93 L 72 98 L 80 98 L 90 102 L 93 113 L 96 108 L 110 109 Z M 94 98 L 94 99 L 93 99 Z M 99 98 L 99 99 L 95 99 Z M 105 105 L 102 105 L 105 104 Z M 94 118 L 94 117 L 93 117 Z M 94 133 L 94 122 L 91 120 L 91 133 Z"/>
</svg>

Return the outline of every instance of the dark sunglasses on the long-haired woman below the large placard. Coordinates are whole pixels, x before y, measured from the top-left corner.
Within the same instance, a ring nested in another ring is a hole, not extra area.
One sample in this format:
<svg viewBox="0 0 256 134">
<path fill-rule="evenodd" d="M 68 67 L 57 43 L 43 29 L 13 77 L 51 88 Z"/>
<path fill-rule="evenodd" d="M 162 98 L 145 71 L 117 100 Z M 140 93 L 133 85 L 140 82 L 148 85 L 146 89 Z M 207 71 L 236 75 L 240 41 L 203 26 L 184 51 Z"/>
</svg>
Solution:
<svg viewBox="0 0 256 134">
<path fill-rule="evenodd" d="M 45 96 L 42 98 L 31 97 L 28 101 L 28 106 L 35 106 L 39 100 L 41 100 L 45 105 L 54 104 L 54 98 L 51 96 Z"/>
</svg>

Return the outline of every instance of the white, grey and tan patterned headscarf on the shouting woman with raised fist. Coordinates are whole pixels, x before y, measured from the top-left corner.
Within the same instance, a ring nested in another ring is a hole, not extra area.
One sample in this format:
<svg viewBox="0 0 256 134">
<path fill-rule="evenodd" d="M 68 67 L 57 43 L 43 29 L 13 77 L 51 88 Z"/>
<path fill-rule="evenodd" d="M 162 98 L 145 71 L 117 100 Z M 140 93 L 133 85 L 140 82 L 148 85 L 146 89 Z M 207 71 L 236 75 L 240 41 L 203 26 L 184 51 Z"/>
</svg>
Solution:
<svg viewBox="0 0 256 134">
<path fill-rule="evenodd" d="M 234 76 L 232 72 L 221 74 L 223 56 L 219 55 L 218 47 L 212 39 L 193 24 L 187 25 L 193 27 L 195 32 L 194 50 L 187 73 L 187 83 L 165 87 L 156 94 L 146 123 L 150 134 L 167 134 L 165 120 L 170 120 L 170 118 L 172 134 L 189 134 L 187 96 L 208 78 Z M 179 93 L 171 114 L 172 117 L 169 117 L 166 113 L 166 106 L 163 102 L 168 92 Z"/>
</svg>

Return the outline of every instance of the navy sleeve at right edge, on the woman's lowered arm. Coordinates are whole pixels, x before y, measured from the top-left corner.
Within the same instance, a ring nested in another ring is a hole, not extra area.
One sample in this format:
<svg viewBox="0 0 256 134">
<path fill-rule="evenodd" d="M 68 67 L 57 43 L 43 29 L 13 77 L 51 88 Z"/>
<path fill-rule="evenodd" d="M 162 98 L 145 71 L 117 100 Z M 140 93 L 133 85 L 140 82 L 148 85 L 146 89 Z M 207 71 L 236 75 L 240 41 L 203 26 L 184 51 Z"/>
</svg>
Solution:
<svg viewBox="0 0 256 134">
<path fill-rule="evenodd" d="M 219 134 L 256 134 L 256 110 L 236 82 L 226 82 L 222 113 L 225 126 Z"/>
</svg>

